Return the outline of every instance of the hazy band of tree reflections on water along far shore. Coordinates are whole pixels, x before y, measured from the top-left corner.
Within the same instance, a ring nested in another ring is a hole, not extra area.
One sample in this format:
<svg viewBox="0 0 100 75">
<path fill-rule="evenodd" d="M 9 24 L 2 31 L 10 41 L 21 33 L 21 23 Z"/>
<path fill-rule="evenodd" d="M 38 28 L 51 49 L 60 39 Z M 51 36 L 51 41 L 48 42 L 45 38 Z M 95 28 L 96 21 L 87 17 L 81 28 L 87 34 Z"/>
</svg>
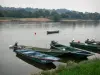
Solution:
<svg viewBox="0 0 100 75">
<path fill-rule="evenodd" d="M 5 26 L 2 26 L 4 25 Z M 1 28 L 41 28 L 41 29 L 58 29 L 58 28 L 73 28 L 76 27 L 98 27 L 99 21 L 76 21 L 76 22 L 0 22 Z"/>
</svg>

